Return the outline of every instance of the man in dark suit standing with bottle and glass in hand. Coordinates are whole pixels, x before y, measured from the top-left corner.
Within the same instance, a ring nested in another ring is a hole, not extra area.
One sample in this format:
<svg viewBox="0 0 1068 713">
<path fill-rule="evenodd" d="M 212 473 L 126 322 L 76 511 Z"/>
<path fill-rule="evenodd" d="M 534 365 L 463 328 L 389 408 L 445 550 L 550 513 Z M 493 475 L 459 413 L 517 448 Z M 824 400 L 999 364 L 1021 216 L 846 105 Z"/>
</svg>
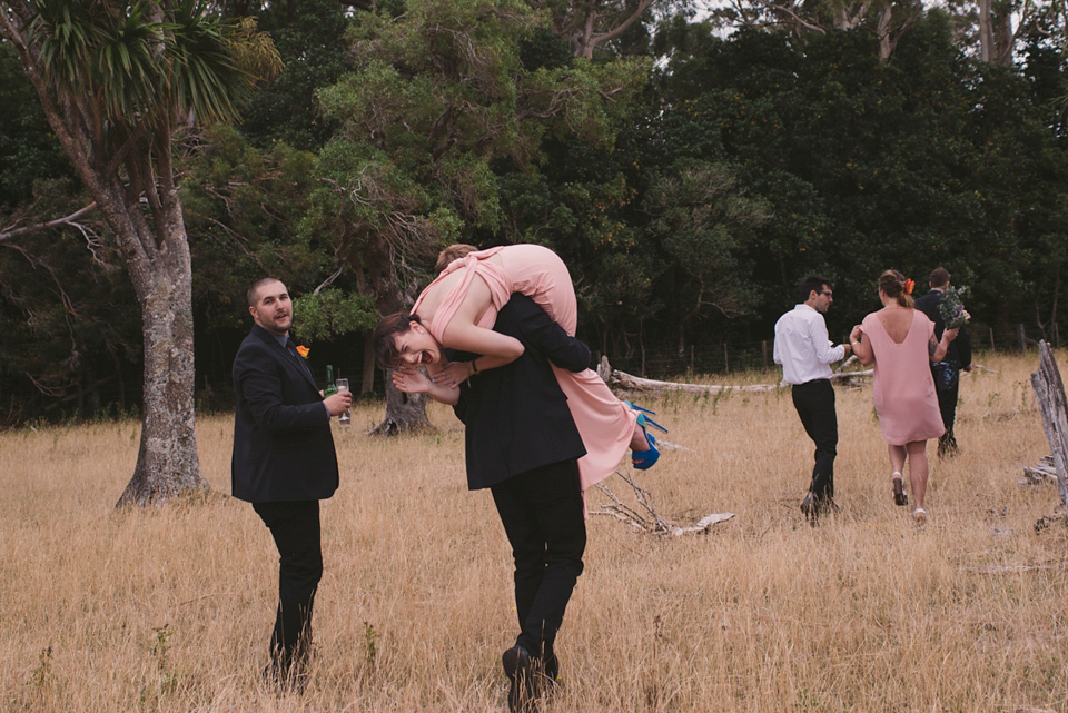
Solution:
<svg viewBox="0 0 1068 713">
<path fill-rule="evenodd" d="M 234 359 L 234 497 L 253 504 L 278 547 L 278 610 L 270 636 L 267 683 L 283 690 L 304 683 L 312 642 L 312 606 L 323 576 L 319 501 L 337 489 L 330 417 L 352 394 L 324 399 L 289 338 L 293 304 L 281 281 L 264 278 L 248 289 L 251 333 Z"/>
</svg>

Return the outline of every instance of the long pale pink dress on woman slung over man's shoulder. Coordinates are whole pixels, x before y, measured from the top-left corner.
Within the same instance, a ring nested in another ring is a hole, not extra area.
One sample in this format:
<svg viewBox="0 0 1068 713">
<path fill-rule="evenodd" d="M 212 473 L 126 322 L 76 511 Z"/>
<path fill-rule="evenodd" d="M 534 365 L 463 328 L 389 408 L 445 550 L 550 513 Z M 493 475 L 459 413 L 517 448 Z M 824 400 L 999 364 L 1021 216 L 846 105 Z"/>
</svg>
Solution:
<svg viewBox="0 0 1068 713">
<path fill-rule="evenodd" d="M 493 255 L 501 257 L 503 267 L 486 261 L 486 258 Z M 445 327 L 467 295 L 475 275 L 490 286 L 492 300 L 491 306 L 478 318 L 479 327 L 492 329 L 497 310 L 512 298 L 512 293 L 522 293 L 548 313 L 568 335 L 575 336 L 578 321 L 575 286 L 571 281 L 567 266 L 548 248 L 540 245 L 506 245 L 469 252 L 453 260 L 437 279 L 423 290 L 412 311 L 418 313 L 423 297 L 431 287 L 445 275 L 458 269 L 466 269 L 463 280 L 445 296 L 434 317 L 423 321 L 443 346 L 448 346 L 442 339 Z M 582 489 L 585 491 L 612 475 L 619 467 L 620 461 L 630 448 L 637 415 L 612 394 L 596 372 L 586 369 L 575 373 L 554 365 L 553 373 L 567 397 L 567 407 L 575 419 L 575 426 L 578 427 L 582 443 L 586 446 L 586 455 L 578 458 L 578 475 Z M 537 418 L 537 414 L 531 414 L 530 417 Z"/>
</svg>

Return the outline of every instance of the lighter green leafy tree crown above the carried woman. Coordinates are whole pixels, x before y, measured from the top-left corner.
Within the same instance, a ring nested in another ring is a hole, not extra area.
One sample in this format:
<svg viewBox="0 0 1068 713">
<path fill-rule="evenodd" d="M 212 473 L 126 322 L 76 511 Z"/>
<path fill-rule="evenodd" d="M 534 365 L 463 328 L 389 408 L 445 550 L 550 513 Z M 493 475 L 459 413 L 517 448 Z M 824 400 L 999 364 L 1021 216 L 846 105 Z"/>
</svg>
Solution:
<svg viewBox="0 0 1068 713">
<path fill-rule="evenodd" d="M 362 290 L 383 311 L 384 300 L 402 307 L 400 288 L 425 279 L 444 245 L 525 231 L 503 188 L 526 185 L 540 194 L 522 199 L 537 204 L 532 215 L 552 210 L 537 186 L 546 141 L 609 149 L 649 69 L 573 60 L 518 0 L 424 0 L 397 18 L 357 12 L 350 37 L 355 70 L 318 92 L 339 130 L 319 156 L 326 185 L 305 229 L 333 232 L 335 254 L 366 275 Z"/>
</svg>

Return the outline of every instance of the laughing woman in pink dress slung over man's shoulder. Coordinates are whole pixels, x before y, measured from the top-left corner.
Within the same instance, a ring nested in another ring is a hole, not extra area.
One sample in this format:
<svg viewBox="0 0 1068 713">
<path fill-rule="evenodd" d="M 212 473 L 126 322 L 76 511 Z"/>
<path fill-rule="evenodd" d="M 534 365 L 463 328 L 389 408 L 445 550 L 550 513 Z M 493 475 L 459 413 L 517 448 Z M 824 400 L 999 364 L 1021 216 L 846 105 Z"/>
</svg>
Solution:
<svg viewBox="0 0 1068 713">
<path fill-rule="evenodd" d="M 453 260 L 423 290 L 411 314 L 383 318 L 374 335 L 379 366 L 426 367 L 435 385 L 452 389 L 481 372 L 513 362 L 523 354 L 523 344 L 493 331 L 497 310 L 513 293 L 533 299 L 568 335 L 575 335 L 578 308 L 567 266 L 548 248 L 508 245 Z M 442 348 L 482 356 L 449 363 Z M 614 473 L 627 448 L 635 468 L 656 462 L 660 454 L 645 425 L 660 426 L 643 409 L 616 398 L 591 369 L 574 373 L 553 366 L 553 372 L 586 447 L 586 455 L 578 459 L 583 489 Z M 418 379 L 409 380 L 404 370 L 394 374 L 402 392 L 424 390 Z M 441 393 L 429 393 L 443 400 Z M 536 417 L 531 414 L 532 419 Z"/>
</svg>

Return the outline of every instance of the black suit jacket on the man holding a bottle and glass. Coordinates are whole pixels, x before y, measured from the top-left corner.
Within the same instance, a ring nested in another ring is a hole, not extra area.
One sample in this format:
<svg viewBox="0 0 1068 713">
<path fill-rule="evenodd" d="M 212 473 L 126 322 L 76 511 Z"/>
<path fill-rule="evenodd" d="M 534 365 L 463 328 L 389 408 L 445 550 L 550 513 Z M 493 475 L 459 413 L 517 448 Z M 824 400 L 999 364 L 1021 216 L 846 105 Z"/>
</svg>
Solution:
<svg viewBox="0 0 1068 713">
<path fill-rule="evenodd" d="M 337 489 L 330 416 L 312 373 L 266 329 L 234 359 L 234 497 L 250 503 L 319 501 Z"/>
</svg>

